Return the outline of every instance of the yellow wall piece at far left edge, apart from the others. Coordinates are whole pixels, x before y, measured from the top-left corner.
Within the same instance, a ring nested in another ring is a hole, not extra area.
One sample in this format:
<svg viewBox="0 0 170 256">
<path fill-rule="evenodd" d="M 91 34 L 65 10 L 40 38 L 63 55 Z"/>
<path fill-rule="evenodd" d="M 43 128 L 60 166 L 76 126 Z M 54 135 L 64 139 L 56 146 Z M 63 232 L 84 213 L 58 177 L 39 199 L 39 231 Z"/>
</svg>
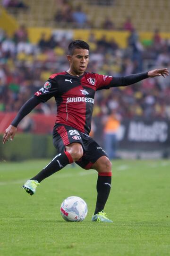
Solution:
<svg viewBox="0 0 170 256">
<path fill-rule="evenodd" d="M 3 7 L 0 7 L 0 28 L 5 30 L 9 36 L 12 36 L 18 28 L 17 20 L 9 15 Z"/>
</svg>

